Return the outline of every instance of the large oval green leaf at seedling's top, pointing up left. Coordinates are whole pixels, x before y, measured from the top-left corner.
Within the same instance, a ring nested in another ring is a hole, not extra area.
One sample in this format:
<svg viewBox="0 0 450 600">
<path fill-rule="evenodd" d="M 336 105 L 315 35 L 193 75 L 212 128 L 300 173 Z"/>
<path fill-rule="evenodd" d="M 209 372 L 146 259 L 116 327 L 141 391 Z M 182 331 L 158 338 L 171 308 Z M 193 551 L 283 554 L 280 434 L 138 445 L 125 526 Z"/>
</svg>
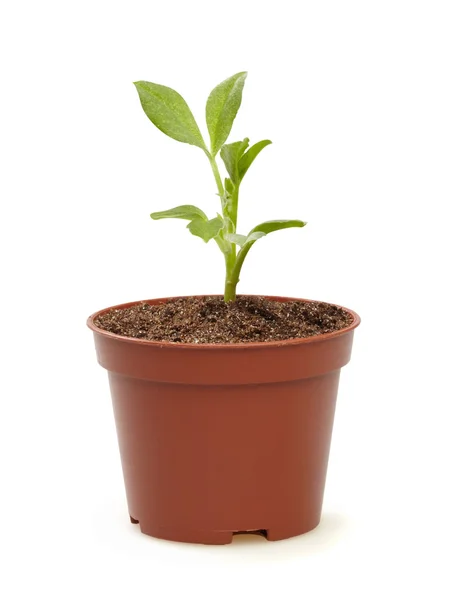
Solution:
<svg viewBox="0 0 450 600">
<path fill-rule="evenodd" d="M 178 92 L 149 81 L 136 81 L 134 85 L 145 114 L 158 129 L 174 140 L 207 151 L 191 110 Z"/>
</svg>

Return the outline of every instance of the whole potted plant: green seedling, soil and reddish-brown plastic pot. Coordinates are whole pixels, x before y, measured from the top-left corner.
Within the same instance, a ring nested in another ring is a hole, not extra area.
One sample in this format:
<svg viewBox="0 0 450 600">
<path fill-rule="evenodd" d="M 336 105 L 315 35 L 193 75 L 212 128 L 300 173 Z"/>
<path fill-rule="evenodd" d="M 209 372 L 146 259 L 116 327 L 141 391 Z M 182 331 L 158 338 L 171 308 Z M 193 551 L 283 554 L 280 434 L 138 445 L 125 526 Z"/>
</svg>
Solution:
<svg viewBox="0 0 450 600">
<path fill-rule="evenodd" d="M 209 146 L 177 92 L 135 83 L 153 124 L 211 165 L 220 213 L 182 205 L 151 216 L 186 219 L 190 233 L 214 240 L 223 297 L 130 302 L 88 320 L 109 371 L 131 521 L 168 540 L 226 544 L 244 531 L 280 540 L 318 525 L 339 373 L 360 322 L 324 302 L 236 296 L 252 246 L 306 224 L 268 221 L 238 233 L 241 183 L 270 144 L 226 143 L 245 79 L 237 73 L 209 95 Z"/>
</svg>

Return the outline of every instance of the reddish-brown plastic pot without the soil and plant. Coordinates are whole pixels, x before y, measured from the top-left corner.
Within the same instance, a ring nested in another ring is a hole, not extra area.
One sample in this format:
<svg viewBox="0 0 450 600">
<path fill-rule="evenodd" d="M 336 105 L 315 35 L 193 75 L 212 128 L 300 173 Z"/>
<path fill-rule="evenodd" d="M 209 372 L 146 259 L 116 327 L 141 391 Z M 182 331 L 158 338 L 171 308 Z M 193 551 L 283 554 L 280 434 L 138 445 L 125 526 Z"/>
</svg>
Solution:
<svg viewBox="0 0 450 600">
<path fill-rule="evenodd" d="M 316 527 L 358 315 L 346 309 L 353 322 L 334 333 L 251 344 L 151 342 L 94 324 L 133 304 L 88 319 L 109 372 L 132 523 L 203 544 L 241 532 L 282 540 Z"/>
</svg>

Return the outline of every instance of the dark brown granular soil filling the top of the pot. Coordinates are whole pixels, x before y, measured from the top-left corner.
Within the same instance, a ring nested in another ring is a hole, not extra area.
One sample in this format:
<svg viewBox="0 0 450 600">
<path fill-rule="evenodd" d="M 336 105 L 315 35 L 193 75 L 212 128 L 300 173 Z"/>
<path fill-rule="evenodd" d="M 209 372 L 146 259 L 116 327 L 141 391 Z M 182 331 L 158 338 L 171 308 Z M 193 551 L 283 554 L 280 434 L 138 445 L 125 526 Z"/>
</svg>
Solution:
<svg viewBox="0 0 450 600">
<path fill-rule="evenodd" d="M 305 338 L 338 331 L 353 317 L 326 302 L 276 302 L 259 296 L 173 298 L 110 310 L 95 319 L 101 329 L 153 341 L 236 344 Z"/>
</svg>

